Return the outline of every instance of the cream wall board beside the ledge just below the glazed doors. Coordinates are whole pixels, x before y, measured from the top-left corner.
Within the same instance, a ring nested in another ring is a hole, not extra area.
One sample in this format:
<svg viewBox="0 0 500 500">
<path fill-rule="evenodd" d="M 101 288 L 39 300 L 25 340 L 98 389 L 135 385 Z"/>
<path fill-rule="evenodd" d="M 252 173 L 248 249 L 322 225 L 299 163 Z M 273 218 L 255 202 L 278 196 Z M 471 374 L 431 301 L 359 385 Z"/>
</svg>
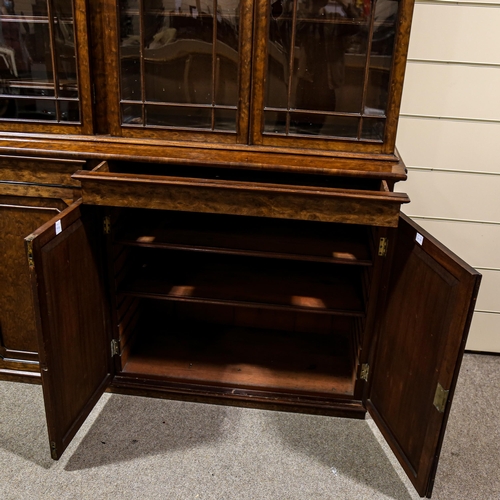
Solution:
<svg viewBox="0 0 500 500">
<path fill-rule="evenodd" d="M 491 98 L 500 100 L 496 91 Z M 397 147 L 407 166 L 500 173 L 499 145 L 500 122 L 399 120 Z"/>
</svg>

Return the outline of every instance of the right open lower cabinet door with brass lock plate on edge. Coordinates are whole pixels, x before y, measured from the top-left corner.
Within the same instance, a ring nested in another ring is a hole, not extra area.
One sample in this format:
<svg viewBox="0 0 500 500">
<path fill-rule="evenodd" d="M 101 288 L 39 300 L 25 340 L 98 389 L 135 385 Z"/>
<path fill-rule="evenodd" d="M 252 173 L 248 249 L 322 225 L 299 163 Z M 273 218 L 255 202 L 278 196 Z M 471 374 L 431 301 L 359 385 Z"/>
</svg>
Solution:
<svg viewBox="0 0 500 500">
<path fill-rule="evenodd" d="M 420 496 L 431 496 L 481 276 L 401 217 L 367 410 Z"/>
</svg>

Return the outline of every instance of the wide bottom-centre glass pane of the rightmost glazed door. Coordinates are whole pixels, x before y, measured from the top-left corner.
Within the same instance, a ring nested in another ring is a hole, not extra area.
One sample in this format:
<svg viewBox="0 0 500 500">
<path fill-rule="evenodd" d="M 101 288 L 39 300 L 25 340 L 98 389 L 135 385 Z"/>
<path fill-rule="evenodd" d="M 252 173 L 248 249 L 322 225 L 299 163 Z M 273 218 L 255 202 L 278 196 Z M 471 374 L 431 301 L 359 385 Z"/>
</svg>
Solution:
<svg viewBox="0 0 500 500">
<path fill-rule="evenodd" d="M 359 119 L 350 116 L 291 113 L 290 133 L 356 138 L 358 124 Z"/>
</svg>

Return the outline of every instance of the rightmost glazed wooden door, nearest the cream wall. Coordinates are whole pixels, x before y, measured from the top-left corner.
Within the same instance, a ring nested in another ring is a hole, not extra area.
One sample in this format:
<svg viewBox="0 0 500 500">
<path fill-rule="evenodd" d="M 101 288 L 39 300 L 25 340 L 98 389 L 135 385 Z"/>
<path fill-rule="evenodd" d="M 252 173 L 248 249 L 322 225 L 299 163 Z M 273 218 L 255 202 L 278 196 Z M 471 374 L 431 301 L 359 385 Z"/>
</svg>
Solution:
<svg viewBox="0 0 500 500">
<path fill-rule="evenodd" d="M 393 153 L 413 1 L 256 4 L 253 142 Z"/>
</svg>

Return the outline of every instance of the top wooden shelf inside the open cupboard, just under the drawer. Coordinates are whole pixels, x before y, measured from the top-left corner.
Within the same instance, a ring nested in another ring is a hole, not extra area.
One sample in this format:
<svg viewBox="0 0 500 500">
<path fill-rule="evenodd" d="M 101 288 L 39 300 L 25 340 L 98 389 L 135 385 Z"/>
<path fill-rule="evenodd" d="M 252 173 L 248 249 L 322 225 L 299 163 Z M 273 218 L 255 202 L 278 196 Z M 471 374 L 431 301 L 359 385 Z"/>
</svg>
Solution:
<svg viewBox="0 0 500 500">
<path fill-rule="evenodd" d="M 361 226 L 151 210 L 123 220 L 115 239 L 130 246 L 372 265 Z"/>
</svg>

